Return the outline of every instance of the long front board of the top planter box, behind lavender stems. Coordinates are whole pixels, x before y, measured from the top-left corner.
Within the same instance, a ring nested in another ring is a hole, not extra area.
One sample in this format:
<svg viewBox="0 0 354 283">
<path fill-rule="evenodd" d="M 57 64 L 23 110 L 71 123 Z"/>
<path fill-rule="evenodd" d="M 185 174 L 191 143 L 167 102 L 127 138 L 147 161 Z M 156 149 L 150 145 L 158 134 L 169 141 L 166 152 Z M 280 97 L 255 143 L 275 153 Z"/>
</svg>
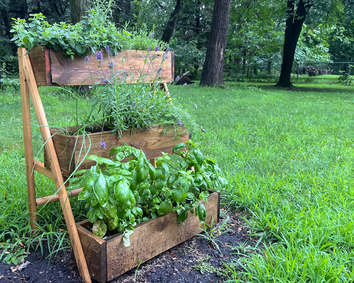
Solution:
<svg viewBox="0 0 354 283">
<path fill-rule="evenodd" d="M 98 81 L 102 81 L 101 84 L 104 84 L 104 78 L 112 79 L 114 74 L 122 80 L 125 73 L 128 73 L 127 81 L 130 83 L 136 83 L 141 73 L 144 75 L 144 81 L 149 82 L 156 79 L 156 73 L 161 65 L 163 53 L 162 51 L 150 51 L 147 54 L 146 51 L 123 50 L 119 51 L 115 56 L 108 56 L 105 50 L 101 51 L 103 54 L 102 69 L 97 68 L 99 66 L 98 60 L 96 60 L 96 55 L 91 52 L 87 53 L 90 60 L 88 63 L 89 68 L 84 56 L 74 55 L 74 60 L 72 60 L 70 56 L 65 56 L 61 49 L 58 51 L 51 49 L 50 58 L 53 84 L 61 86 L 80 85 L 81 83 L 82 85 L 93 85 Z M 123 57 L 125 58 L 124 63 L 122 63 Z M 167 82 L 172 80 L 171 57 L 168 57 L 163 63 L 162 71 L 157 81 Z M 145 58 L 147 58 L 146 62 Z M 111 61 L 115 64 L 113 70 L 109 68 Z"/>
</svg>

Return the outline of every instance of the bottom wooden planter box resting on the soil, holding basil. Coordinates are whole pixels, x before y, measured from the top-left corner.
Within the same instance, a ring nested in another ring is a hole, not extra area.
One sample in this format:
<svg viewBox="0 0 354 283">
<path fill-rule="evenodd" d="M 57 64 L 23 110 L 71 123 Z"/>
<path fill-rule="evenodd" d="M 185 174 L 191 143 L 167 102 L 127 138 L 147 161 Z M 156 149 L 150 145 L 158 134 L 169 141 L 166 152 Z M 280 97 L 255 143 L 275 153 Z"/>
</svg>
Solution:
<svg viewBox="0 0 354 283">
<path fill-rule="evenodd" d="M 206 223 L 219 222 L 220 193 L 211 191 L 206 208 Z M 87 266 L 92 279 L 104 283 L 136 267 L 156 255 L 200 233 L 203 224 L 188 211 L 188 218 L 177 223 L 177 213 L 170 212 L 135 226 L 130 235 L 130 247 L 124 247 L 123 233 L 101 239 L 85 227 L 89 220 L 76 223 Z"/>
</svg>

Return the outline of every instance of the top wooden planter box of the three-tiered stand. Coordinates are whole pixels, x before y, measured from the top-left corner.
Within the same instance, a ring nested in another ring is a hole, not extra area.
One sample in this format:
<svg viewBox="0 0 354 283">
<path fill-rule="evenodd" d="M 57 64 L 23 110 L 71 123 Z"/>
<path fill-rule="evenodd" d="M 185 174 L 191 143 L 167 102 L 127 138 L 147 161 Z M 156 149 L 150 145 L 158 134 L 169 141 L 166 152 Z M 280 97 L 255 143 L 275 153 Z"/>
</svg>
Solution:
<svg viewBox="0 0 354 283">
<path fill-rule="evenodd" d="M 130 80 L 132 73 L 135 78 L 135 80 L 132 80 L 132 83 L 136 82 L 141 72 L 147 74 L 145 81 L 154 80 L 156 72 L 161 65 L 162 53 L 164 52 L 148 52 L 147 62 L 144 63 L 146 51 L 123 50 L 119 51 L 117 55 L 108 56 L 108 53 L 102 50 L 102 69 L 105 76 L 109 77 L 111 70 L 108 64 L 110 61 L 113 61 L 115 64 L 113 67 L 114 73 L 122 77 L 124 72 L 129 72 L 127 80 Z M 56 51 L 47 46 L 34 46 L 28 56 L 32 64 L 37 86 L 92 85 L 96 81 L 102 81 L 102 70 L 101 68 L 97 68 L 99 65 L 98 61 L 96 60 L 96 56 L 91 52 L 87 52 L 87 56 L 90 59 L 88 63 L 90 69 L 84 56 L 75 54 L 74 60 L 72 60 L 70 56 L 63 54 L 62 49 Z M 153 56 L 156 56 L 156 58 L 150 62 L 149 58 L 153 58 Z M 158 78 L 161 83 L 167 83 L 173 79 L 174 52 L 171 51 L 167 57 Z M 124 63 L 122 62 L 123 58 L 125 58 Z M 90 76 L 92 76 L 92 80 Z M 101 84 L 103 83 L 102 81 Z"/>
</svg>

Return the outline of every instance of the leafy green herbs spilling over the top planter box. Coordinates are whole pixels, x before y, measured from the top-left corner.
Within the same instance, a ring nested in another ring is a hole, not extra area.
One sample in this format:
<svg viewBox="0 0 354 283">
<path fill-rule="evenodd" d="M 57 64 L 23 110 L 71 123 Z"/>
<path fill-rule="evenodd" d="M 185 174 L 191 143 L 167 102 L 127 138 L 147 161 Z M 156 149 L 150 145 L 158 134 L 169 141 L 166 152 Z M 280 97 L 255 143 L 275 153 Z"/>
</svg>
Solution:
<svg viewBox="0 0 354 283">
<path fill-rule="evenodd" d="M 146 25 L 142 29 L 132 29 L 130 32 L 127 25 L 117 28 L 112 22 L 113 1 L 102 3 L 95 0 L 92 2 L 89 15 L 76 24 L 49 24 L 45 21 L 42 13 L 31 14 L 29 23 L 25 19 L 13 18 L 15 25 L 11 32 L 14 33 L 12 41 L 19 47 L 25 47 L 30 51 L 33 46 L 46 45 L 55 50 L 61 47 L 65 55 L 74 59 L 74 54 L 86 56 L 90 50 L 96 51 L 110 47 L 110 54 L 116 54 L 118 50 L 136 49 L 146 50 L 149 46 L 160 46 L 164 50 L 167 44 L 153 38 L 154 30 L 148 32 Z"/>
</svg>

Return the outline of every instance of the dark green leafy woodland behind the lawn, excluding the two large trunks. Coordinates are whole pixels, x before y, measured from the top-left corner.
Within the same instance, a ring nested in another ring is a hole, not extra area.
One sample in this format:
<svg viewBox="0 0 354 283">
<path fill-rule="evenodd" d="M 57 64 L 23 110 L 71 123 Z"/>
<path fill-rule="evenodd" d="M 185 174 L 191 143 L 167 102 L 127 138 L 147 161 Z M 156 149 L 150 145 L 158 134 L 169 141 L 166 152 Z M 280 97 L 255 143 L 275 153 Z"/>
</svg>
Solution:
<svg viewBox="0 0 354 283">
<path fill-rule="evenodd" d="M 70 3 L 71 2 L 71 3 Z M 114 0 L 113 20 L 119 25 L 155 28 L 156 39 L 176 52 L 175 71 L 200 79 L 210 37 L 213 0 Z M 289 3 L 294 6 L 289 12 Z M 297 41 L 293 65 L 311 62 L 352 62 L 354 59 L 353 0 L 232 0 L 224 60 L 224 74 L 233 66 L 242 73 L 279 67 L 284 56 L 286 20 L 304 2 L 310 8 Z M 11 18 L 28 19 L 41 12 L 49 23 L 78 21 L 86 0 L 3 0 L 0 3 L 0 60 L 16 56 L 10 39 Z M 72 8 L 75 7 L 75 8 Z M 75 13 L 73 15 L 72 13 Z M 296 17 L 296 15 L 295 15 Z M 82 18 L 81 18 L 82 19 Z M 8 68 L 11 64 L 7 64 Z M 243 66 L 243 67 L 242 67 Z M 243 69 L 242 69 L 243 68 Z M 252 70 L 250 69 L 252 68 Z M 291 67 L 290 67 L 291 68 Z M 247 70 L 246 70 L 247 69 Z"/>
</svg>

